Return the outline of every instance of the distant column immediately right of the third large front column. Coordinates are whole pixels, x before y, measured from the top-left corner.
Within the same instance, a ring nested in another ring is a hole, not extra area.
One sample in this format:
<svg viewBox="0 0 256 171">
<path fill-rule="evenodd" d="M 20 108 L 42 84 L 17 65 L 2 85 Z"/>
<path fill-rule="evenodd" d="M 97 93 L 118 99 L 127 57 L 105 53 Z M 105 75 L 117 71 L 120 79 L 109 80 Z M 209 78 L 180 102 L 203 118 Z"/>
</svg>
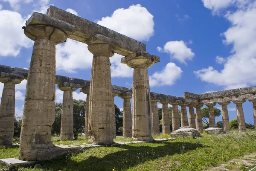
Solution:
<svg viewBox="0 0 256 171">
<path fill-rule="evenodd" d="M 151 124 L 152 124 L 152 134 L 159 135 L 159 116 L 157 109 L 157 101 L 151 100 Z"/>
</svg>

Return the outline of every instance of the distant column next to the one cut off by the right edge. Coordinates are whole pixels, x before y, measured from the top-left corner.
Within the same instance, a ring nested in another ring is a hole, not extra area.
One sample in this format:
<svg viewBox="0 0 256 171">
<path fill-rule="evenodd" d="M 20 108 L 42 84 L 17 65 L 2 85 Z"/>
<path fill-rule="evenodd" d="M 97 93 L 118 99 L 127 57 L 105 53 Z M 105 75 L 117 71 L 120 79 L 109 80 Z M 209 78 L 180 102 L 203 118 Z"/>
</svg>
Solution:
<svg viewBox="0 0 256 171">
<path fill-rule="evenodd" d="M 242 103 L 245 102 L 244 99 L 237 99 L 232 101 L 234 104 L 236 104 L 236 116 L 237 116 L 237 125 L 238 125 L 238 131 L 239 132 L 245 132 L 245 121 L 244 121 L 244 110 Z"/>
</svg>

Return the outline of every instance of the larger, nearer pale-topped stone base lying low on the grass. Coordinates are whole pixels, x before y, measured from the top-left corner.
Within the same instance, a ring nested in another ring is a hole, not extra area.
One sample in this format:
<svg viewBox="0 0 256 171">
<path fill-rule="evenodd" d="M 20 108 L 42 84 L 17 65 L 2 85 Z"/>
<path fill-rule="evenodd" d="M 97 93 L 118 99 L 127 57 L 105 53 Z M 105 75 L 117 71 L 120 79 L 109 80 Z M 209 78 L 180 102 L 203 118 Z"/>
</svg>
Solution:
<svg viewBox="0 0 256 171">
<path fill-rule="evenodd" d="M 192 138 L 199 138 L 201 137 L 201 134 L 198 132 L 198 130 L 190 127 L 180 127 L 180 129 L 175 130 L 174 133 L 171 133 L 171 137 L 177 137 L 177 136 L 190 136 Z"/>
</svg>

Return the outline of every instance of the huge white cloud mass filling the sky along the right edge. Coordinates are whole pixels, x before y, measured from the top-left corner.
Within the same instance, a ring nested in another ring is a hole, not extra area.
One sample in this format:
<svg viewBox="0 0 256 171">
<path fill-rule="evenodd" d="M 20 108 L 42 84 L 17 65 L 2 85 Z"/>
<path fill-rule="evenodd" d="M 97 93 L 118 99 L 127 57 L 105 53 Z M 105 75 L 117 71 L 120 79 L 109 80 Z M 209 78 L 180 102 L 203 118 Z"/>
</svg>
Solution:
<svg viewBox="0 0 256 171">
<path fill-rule="evenodd" d="M 239 8 L 239 6 L 237 6 Z M 206 81 L 224 89 L 248 87 L 256 84 L 256 2 L 246 8 L 224 16 L 231 26 L 222 35 L 224 43 L 233 45 L 231 55 L 220 71 L 213 67 L 194 71 L 201 81 Z"/>
</svg>

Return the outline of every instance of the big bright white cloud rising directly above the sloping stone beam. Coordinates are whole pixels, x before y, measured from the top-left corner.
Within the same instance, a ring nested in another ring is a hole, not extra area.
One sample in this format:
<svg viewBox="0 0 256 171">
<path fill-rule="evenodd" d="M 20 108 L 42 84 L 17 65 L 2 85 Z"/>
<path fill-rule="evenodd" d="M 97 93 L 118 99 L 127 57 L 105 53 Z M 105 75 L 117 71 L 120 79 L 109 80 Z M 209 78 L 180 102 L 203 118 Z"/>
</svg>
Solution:
<svg viewBox="0 0 256 171">
<path fill-rule="evenodd" d="M 128 9 L 116 9 L 111 17 L 102 17 L 97 23 L 138 41 L 148 41 L 154 35 L 153 17 L 145 7 L 137 4 Z"/>
</svg>

